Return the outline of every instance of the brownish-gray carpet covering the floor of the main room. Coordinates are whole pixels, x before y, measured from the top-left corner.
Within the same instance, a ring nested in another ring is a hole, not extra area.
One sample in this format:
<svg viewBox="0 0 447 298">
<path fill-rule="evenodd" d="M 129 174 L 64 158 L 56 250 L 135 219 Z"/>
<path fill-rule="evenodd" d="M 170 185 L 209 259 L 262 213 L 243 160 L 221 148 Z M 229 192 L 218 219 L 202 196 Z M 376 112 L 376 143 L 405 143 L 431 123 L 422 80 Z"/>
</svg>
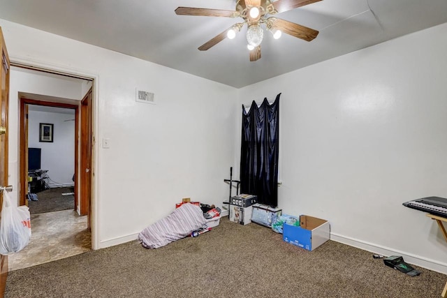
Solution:
<svg viewBox="0 0 447 298">
<path fill-rule="evenodd" d="M 305 251 L 222 218 L 156 250 L 131 241 L 12 271 L 5 297 L 440 297 L 447 276 L 417 269 L 407 276 L 335 241 Z"/>
</svg>

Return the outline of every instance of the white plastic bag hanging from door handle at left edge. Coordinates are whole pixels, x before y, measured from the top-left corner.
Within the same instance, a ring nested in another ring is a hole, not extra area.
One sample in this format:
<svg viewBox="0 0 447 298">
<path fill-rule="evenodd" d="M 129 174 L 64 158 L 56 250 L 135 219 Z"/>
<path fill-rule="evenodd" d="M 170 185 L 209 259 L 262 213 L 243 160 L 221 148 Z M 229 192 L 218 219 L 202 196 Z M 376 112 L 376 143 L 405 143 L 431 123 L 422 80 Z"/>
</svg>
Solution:
<svg viewBox="0 0 447 298">
<path fill-rule="evenodd" d="M 0 254 L 17 253 L 29 244 L 31 221 L 27 206 L 12 204 L 7 191 L 3 191 L 3 206 L 0 218 Z"/>
</svg>

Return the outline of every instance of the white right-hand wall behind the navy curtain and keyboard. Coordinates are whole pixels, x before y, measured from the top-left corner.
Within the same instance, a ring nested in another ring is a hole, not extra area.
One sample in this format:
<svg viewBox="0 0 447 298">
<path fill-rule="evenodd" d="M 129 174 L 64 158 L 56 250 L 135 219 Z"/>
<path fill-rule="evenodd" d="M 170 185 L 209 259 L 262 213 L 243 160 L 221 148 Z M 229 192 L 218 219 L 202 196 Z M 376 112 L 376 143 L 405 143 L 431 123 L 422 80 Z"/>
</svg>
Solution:
<svg viewBox="0 0 447 298">
<path fill-rule="evenodd" d="M 241 103 L 282 93 L 279 207 L 327 219 L 337 241 L 447 273 L 437 223 L 402 206 L 447 198 L 446 31 L 443 24 L 240 89 Z M 237 149 L 240 117 L 235 132 Z"/>
</svg>

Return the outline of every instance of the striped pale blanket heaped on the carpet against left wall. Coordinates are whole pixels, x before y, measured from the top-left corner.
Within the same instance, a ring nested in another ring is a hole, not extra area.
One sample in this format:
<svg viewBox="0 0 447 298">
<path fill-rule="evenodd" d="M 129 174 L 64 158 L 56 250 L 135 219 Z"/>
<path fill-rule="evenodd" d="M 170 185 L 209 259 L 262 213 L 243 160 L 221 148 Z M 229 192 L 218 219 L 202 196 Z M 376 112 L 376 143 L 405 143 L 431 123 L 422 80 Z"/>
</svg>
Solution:
<svg viewBox="0 0 447 298">
<path fill-rule="evenodd" d="M 191 232 L 205 228 L 207 221 L 200 207 L 182 204 L 166 218 L 149 225 L 138 234 L 145 248 L 159 248 L 173 241 L 189 236 Z"/>
</svg>

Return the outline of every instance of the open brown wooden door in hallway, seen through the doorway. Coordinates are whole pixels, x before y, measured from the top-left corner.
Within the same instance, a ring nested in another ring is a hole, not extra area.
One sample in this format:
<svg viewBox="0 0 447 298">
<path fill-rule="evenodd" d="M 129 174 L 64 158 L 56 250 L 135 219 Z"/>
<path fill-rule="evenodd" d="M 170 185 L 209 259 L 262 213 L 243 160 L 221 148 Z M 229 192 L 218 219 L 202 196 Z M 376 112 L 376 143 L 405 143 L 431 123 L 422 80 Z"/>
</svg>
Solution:
<svg viewBox="0 0 447 298">
<path fill-rule="evenodd" d="M 87 225 L 91 228 L 91 96 L 90 89 L 81 101 L 81 165 L 80 165 L 80 215 L 87 214 Z"/>
</svg>

